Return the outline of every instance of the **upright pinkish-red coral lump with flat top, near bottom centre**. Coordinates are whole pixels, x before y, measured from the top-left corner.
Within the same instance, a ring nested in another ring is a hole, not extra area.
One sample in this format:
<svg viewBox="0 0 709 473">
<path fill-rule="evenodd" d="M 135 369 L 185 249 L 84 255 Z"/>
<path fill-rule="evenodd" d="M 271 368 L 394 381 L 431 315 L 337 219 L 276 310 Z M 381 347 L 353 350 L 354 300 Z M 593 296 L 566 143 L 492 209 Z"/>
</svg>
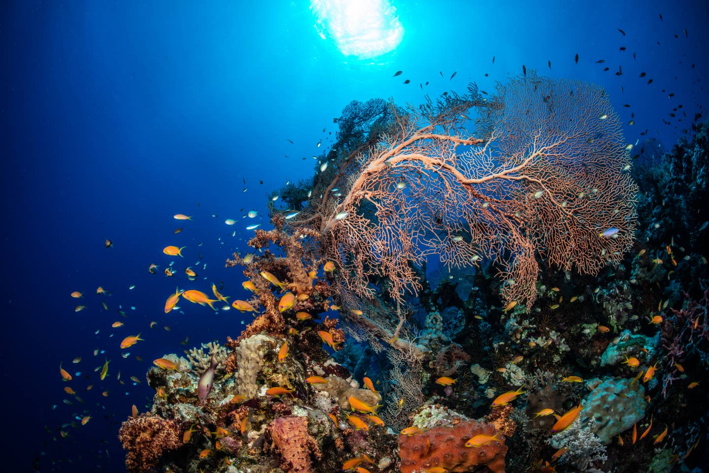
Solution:
<svg viewBox="0 0 709 473">
<path fill-rule="evenodd" d="M 279 417 L 268 425 L 268 433 L 281 452 L 281 468 L 288 473 L 311 473 L 311 452 L 320 458 L 315 439 L 308 433 L 308 418 Z"/>
</svg>

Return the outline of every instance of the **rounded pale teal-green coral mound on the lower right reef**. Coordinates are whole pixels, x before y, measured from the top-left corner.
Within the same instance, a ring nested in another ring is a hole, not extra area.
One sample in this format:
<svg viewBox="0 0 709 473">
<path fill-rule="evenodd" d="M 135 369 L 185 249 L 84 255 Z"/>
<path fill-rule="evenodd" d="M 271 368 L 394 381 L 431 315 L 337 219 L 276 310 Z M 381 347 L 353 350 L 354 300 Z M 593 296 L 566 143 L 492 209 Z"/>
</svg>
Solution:
<svg viewBox="0 0 709 473">
<path fill-rule="evenodd" d="M 586 396 L 582 427 L 591 417 L 596 419 L 592 430 L 605 445 L 645 416 L 645 389 L 640 382 L 631 383 L 632 379 L 605 379 Z"/>
</svg>

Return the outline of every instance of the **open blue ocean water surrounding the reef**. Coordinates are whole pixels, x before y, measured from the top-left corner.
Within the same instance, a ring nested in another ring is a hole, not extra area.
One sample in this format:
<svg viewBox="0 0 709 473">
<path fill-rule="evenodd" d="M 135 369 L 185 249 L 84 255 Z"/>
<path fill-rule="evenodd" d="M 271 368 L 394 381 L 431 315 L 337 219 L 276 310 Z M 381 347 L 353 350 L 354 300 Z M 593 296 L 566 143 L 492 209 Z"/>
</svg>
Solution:
<svg viewBox="0 0 709 473">
<path fill-rule="evenodd" d="M 347 3 L 325 10 L 347 13 Z M 6 471 L 124 471 L 118 426 L 152 399 L 151 360 L 235 337 L 251 320 L 187 301 L 164 314 L 184 267 L 208 294 L 223 282 L 223 294 L 245 296 L 225 259 L 247 249 L 246 226 L 268 227 L 267 194 L 312 174 L 317 144 L 334 141 L 333 118 L 353 99 L 419 104 L 468 82 L 492 92 L 524 65 L 605 87 L 628 143 L 671 147 L 709 103 L 708 6 L 675 3 L 393 1 L 401 43 L 357 57 L 308 1 L 3 2 L 2 391 L 16 439 Z M 184 258 L 166 245 L 186 246 Z M 121 357 L 122 338 L 138 333 L 145 341 Z M 63 391 L 60 362 L 83 404 Z"/>
</svg>

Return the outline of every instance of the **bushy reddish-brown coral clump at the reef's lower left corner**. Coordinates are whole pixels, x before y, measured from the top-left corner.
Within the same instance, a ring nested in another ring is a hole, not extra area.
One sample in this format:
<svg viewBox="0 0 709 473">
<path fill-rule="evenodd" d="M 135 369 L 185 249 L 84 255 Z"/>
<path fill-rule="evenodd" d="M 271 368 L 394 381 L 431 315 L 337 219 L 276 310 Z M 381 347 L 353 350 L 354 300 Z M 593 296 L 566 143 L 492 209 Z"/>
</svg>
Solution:
<svg viewBox="0 0 709 473">
<path fill-rule="evenodd" d="M 126 450 L 128 472 L 147 473 L 157 466 L 164 452 L 182 445 L 182 429 L 175 421 L 144 413 L 121 425 L 118 440 Z"/>
</svg>

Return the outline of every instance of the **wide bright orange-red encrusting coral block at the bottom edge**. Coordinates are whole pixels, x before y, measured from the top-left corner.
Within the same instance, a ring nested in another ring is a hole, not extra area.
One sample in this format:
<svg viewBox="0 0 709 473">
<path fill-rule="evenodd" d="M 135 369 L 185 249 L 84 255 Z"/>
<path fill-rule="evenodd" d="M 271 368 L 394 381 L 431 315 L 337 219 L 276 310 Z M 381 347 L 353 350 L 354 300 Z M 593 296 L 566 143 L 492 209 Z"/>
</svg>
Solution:
<svg viewBox="0 0 709 473">
<path fill-rule="evenodd" d="M 475 435 L 493 435 L 492 424 L 478 421 L 463 421 L 452 427 L 440 425 L 417 435 L 399 435 L 401 473 L 413 473 L 443 467 L 450 472 L 467 472 L 484 465 L 493 473 L 505 472 L 507 445 L 504 438 L 481 447 L 466 447 L 465 443 Z"/>
</svg>

